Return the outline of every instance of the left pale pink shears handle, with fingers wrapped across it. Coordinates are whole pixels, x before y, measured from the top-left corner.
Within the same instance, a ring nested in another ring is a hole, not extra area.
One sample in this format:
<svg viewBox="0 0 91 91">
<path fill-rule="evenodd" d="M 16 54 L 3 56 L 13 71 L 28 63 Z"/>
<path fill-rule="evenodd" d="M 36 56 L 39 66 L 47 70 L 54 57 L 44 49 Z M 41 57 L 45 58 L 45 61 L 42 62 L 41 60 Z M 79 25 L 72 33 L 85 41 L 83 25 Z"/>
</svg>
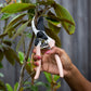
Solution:
<svg viewBox="0 0 91 91">
<path fill-rule="evenodd" d="M 37 54 L 37 55 L 41 55 L 40 46 L 37 46 L 37 47 L 36 47 L 36 54 Z M 38 61 L 38 64 L 39 64 L 39 66 L 37 67 L 36 75 L 35 75 L 35 79 L 38 79 L 38 78 L 39 78 L 40 68 L 41 68 L 41 60 Z"/>
</svg>

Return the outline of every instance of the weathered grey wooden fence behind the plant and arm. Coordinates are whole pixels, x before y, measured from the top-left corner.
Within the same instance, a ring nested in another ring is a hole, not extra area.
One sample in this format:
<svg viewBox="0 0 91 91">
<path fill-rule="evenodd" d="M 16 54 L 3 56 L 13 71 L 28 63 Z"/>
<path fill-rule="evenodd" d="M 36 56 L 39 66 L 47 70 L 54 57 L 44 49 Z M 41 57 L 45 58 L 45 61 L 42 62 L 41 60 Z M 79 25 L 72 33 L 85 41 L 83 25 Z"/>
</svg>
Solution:
<svg viewBox="0 0 91 91">
<path fill-rule="evenodd" d="M 4 0 L 0 0 L 0 2 L 4 2 Z M 69 36 L 65 30 L 61 30 L 60 38 L 62 40 L 62 48 L 67 52 L 73 63 L 78 67 L 81 74 L 91 81 L 91 1 L 56 0 L 56 2 L 65 6 L 76 22 L 76 31 L 74 35 Z M 4 22 L 0 21 L 0 34 L 2 32 L 3 26 Z M 28 42 L 29 40 L 26 41 Z M 15 43 L 16 42 L 17 40 Z M 16 44 L 13 44 L 13 48 L 15 48 L 15 46 Z M 26 48 L 27 46 L 28 43 L 26 43 Z M 8 61 L 5 61 L 5 58 L 3 58 L 2 63 L 3 68 L 0 69 L 4 75 L 2 80 L 13 87 L 14 83 L 18 81 L 21 67 L 18 63 L 15 63 L 15 65 L 12 66 Z M 43 74 L 41 74 L 39 80 L 47 81 Z M 43 87 L 39 88 L 39 91 L 43 90 Z M 64 79 L 61 79 L 61 89 L 57 91 L 70 91 Z"/>
</svg>

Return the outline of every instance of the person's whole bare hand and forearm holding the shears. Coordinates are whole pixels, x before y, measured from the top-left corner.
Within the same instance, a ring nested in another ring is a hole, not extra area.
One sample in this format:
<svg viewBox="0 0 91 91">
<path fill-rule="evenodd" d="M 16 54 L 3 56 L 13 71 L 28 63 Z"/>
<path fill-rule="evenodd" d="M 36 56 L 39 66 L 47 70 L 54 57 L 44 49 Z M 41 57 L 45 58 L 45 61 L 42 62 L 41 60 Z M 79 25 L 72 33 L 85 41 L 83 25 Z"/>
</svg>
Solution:
<svg viewBox="0 0 91 91">
<path fill-rule="evenodd" d="M 58 75 L 58 68 L 54 54 L 58 54 L 62 65 L 64 79 L 73 91 L 91 91 L 91 82 L 89 82 L 78 70 L 78 68 L 72 63 L 67 53 L 60 48 L 53 47 L 50 51 L 43 50 L 42 56 L 36 55 L 36 50 L 34 50 L 35 65 L 38 66 L 38 60 L 42 60 L 41 70 L 48 72 L 54 75 Z M 35 68 L 36 70 L 36 68 Z"/>
</svg>

